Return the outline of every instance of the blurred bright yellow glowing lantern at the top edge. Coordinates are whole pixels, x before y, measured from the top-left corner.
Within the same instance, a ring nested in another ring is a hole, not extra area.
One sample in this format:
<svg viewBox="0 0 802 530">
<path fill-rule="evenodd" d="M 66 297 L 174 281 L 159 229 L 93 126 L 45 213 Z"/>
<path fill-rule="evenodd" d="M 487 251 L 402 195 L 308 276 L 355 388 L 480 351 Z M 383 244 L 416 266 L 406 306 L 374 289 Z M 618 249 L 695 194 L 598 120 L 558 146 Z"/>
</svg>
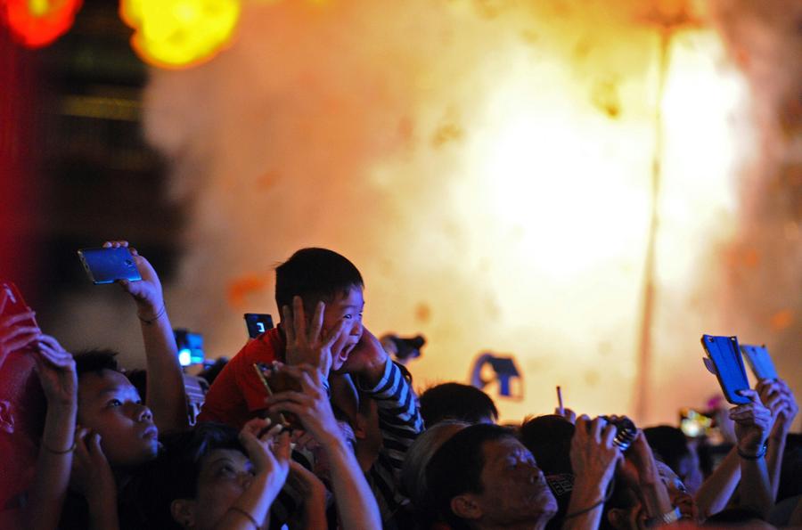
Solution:
<svg viewBox="0 0 802 530">
<path fill-rule="evenodd" d="M 239 0 L 122 0 L 120 17 L 134 28 L 131 45 L 162 68 L 208 61 L 231 40 Z"/>
</svg>

